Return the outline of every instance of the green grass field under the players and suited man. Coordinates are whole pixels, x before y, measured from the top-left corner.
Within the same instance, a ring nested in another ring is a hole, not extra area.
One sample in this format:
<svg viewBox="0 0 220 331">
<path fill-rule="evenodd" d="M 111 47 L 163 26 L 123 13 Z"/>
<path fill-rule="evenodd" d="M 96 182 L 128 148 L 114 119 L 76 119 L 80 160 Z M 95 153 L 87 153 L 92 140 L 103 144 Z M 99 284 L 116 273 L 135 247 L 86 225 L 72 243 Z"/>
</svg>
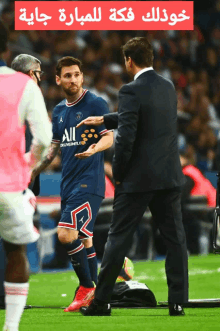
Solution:
<svg viewBox="0 0 220 331">
<path fill-rule="evenodd" d="M 220 298 L 220 257 L 209 255 L 189 258 L 190 299 Z M 135 263 L 134 280 L 146 283 L 157 301 L 167 300 L 164 261 Z M 27 304 L 66 307 L 71 301 L 77 278 L 74 272 L 42 273 L 30 277 Z M 186 316 L 170 317 L 168 309 L 113 309 L 111 317 L 83 317 L 64 313 L 61 308 L 25 310 L 20 331 L 205 331 L 220 329 L 220 308 L 188 308 Z M 0 330 L 4 311 L 0 311 Z"/>
</svg>

